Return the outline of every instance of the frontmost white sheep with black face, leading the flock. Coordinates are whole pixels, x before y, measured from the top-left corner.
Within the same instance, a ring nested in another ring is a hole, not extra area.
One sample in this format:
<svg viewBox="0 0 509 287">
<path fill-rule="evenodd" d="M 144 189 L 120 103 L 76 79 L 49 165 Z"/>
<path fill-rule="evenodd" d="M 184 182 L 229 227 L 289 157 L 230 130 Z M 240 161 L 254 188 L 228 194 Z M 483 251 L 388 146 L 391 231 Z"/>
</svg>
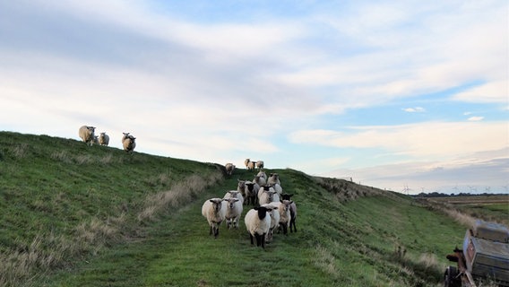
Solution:
<svg viewBox="0 0 509 287">
<path fill-rule="evenodd" d="M 246 213 L 244 222 L 251 238 L 251 245 L 255 245 L 253 242 L 253 237 L 255 237 L 256 246 L 265 248 L 265 236 L 271 228 L 271 215 L 267 216 L 267 213 L 273 209 L 273 206 L 258 206 Z"/>
</svg>

